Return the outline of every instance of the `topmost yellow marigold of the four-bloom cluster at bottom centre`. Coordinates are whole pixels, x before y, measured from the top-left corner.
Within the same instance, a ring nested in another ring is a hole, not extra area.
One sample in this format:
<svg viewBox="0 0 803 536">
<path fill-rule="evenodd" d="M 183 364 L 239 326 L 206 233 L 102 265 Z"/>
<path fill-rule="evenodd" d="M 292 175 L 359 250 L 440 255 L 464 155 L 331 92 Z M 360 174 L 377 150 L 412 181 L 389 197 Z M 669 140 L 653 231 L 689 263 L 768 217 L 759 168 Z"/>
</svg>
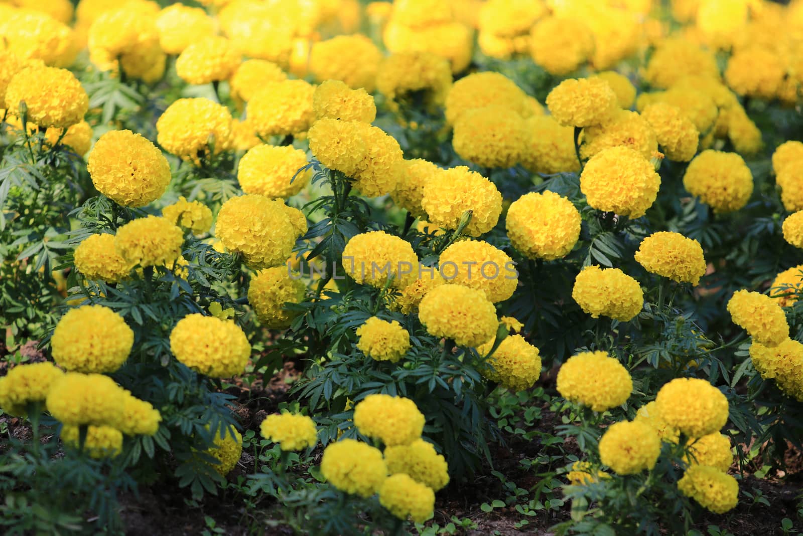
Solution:
<svg viewBox="0 0 803 536">
<path fill-rule="evenodd" d="M 415 403 L 401 396 L 368 395 L 354 407 L 357 430 L 388 447 L 420 439 L 424 420 Z"/>
</svg>

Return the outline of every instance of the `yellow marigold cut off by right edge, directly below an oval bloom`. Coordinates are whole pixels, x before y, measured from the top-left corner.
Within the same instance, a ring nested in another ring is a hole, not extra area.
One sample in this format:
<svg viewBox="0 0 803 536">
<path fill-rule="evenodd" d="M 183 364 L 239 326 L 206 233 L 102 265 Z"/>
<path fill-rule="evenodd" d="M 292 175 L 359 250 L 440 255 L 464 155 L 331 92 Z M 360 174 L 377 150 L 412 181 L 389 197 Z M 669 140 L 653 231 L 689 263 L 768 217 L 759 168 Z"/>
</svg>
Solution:
<svg viewBox="0 0 803 536">
<path fill-rule="evenodd" d="M 761 378 L 774 379 L 781 391 L 803 401 L 803 344 L 786 339 L 768 348 L 753 342 L 750 359 Z"/>
</svg>

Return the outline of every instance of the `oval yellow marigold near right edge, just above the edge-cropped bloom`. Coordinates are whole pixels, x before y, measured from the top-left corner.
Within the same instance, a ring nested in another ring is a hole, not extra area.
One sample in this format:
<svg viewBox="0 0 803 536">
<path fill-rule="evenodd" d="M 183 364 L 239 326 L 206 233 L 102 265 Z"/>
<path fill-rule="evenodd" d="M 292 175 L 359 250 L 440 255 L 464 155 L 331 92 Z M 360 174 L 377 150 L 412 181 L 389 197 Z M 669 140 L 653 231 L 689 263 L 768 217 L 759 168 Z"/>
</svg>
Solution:
<svg viewBox="0 0 803 536">
<path fill-rule="evenodd" d="M 737 290 L 728 301 L 728 313 L 736 325 L 764 346 L 777 346 L 789 338 L 784 309 L 764 294 Z"/>
</svg>

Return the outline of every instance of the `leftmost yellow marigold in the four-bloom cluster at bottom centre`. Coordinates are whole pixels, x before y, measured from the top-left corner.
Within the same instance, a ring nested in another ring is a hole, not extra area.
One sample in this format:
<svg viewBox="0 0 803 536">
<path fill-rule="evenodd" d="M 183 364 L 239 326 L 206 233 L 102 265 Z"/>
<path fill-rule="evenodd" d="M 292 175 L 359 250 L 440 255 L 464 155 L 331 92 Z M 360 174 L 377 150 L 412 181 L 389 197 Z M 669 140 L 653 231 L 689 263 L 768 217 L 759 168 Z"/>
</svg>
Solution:
<svg viewBox="0 0 803 536">
<path fill-rule="evenodd" d="M 324 449 L 320 473 L 341 491 L 370 497 L 387 478 L 388 468 L 378 448 L 345 439 Z"/>
</svg>

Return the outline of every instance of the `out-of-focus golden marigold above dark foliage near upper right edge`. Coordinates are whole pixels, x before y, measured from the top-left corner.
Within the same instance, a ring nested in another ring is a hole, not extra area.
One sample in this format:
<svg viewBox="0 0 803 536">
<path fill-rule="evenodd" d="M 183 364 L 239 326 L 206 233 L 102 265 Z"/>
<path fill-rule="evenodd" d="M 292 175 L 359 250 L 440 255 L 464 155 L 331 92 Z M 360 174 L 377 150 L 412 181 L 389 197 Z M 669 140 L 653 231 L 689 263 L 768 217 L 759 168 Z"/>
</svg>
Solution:
<svg viewBox="0 0 803 536">
<path fill-rule="evenodd" d="M 741 96 L 772 100 L 786 76 L 781 58 L 762 47 L 737 51 L 728 61 L 725 81 Z"/>
</svg>

